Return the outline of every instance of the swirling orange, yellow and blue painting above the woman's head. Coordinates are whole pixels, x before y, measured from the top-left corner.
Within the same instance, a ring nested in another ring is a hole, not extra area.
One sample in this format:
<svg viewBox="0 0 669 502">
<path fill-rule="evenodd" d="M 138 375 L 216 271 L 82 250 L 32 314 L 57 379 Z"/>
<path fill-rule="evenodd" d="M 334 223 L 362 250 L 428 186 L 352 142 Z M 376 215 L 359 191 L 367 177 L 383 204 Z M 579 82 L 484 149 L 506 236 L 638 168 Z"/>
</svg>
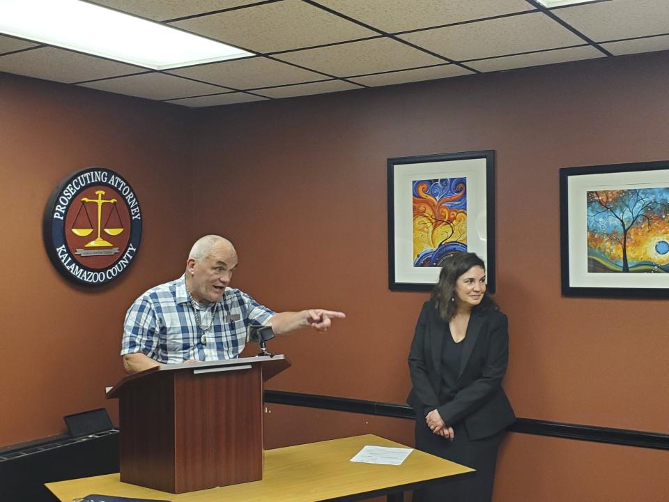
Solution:
<svg viewBox="0 0 669 502">
<path fill-rule="evenodd" d="M 467 178 L 412 185 L 413 266 L 442 266 L 447 257 L 467 251 Z"/>
</svg>

